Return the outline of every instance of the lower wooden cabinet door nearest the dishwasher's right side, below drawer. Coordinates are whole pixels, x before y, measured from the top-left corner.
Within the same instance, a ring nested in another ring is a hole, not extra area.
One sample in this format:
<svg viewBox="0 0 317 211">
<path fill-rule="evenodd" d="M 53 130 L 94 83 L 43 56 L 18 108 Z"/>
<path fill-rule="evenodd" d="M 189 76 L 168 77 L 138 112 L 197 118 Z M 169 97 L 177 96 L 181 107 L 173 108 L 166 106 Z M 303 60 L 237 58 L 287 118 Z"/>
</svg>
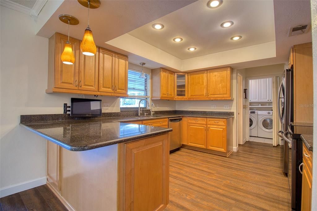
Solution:
<svg viewBox="0 0 317 211">
<path fill-rule="evenodd" d="M 206 125 L 187 124 L 188 145 L 206 149 Z"/>
</svg>

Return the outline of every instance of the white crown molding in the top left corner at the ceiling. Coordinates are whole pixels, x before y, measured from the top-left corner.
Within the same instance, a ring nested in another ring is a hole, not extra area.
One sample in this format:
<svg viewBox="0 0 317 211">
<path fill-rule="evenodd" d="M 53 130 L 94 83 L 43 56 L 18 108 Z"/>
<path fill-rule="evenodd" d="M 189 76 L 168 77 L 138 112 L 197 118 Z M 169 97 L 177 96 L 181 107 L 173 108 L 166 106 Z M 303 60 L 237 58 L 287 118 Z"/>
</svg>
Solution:
<svg viewBox="0 0 317 211">
<path fill-rule="evenodd" d="M 34 4 L 32 9 L 25 7 L 21 4 L 15 3 L 15 2 L 11 2 L 10 0 L 1 0 L 0 5 L 2 5 L 4 7 L 8 7 L 12 10 L 22 12 L 24 14 L 27 14 L 27 15 L 33 17 L 34 21 L 36 22 L 37 16 L 41 12 L 42 8 L 44 7 L 44 5 L 46 4 L 47 1 L 48 0 L 36 0 L 36 3 Z"/>
</svg>

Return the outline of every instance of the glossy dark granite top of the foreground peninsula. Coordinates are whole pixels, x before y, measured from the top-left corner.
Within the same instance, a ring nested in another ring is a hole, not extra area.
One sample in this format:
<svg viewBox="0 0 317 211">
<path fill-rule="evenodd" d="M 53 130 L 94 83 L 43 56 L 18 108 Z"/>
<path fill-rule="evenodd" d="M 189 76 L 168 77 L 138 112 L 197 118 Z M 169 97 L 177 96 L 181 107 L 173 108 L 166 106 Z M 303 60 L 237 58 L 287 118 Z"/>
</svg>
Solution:
<svg viewBox="0 0 317 211">
<path fill-rule="evenodd" d="M 172 131 L 170 128 L 111 122 L 110 118 L 20 124 L 71 151 L 91 150 Z"/>
</svg>

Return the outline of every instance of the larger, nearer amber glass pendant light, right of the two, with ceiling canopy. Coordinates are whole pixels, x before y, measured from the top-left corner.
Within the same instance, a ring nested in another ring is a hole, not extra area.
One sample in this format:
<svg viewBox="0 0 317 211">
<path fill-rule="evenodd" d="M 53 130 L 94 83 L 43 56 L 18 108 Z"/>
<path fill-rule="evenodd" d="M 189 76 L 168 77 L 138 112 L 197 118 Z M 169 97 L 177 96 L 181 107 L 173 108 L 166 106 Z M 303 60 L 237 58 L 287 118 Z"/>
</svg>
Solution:
<svg viewBox="0 0 317 211">
<path fill-rule="evenodd" d="M 82 54 L 94 56 L 97 48 L 94 42 L 93 32 L 89 27 L 89 9 L 96 9 L 100 6 L 99 0 L 78 0 L 78 2 L 88 8 L 88 27 L 85 29 L 84 38 L 82 38 L 80 49 Z"/>
</svg>

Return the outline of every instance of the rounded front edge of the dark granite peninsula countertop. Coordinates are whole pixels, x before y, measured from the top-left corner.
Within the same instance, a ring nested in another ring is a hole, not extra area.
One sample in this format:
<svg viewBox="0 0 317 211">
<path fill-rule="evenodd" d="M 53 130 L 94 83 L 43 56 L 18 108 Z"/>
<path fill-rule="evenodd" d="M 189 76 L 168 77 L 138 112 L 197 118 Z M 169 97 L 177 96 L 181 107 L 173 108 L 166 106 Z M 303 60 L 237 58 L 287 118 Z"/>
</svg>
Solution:
<svg viewBox="0 0 317 211">
<path fill-rule="evenodd" d="M 49 141 L 67 149 L 67 150 L 70 150 L 70 151 L 87 151 L 87 150 L 93 150 L 93 149 L 97 149 L 97 148 L 100 148 L 100 147 L 105 147 L 105 146 L 110 146 L 110 145 L 114 145 L 114 144 L 120 144 L 120 143 L 125 143 L 125 142 L 130 142 L 130 141 L 134 141 L 134 140 L 139 140 L 139 139 L 142 139 L 142 138 L 148 138 L 148 137 L 152 137 L 152 136 L 156 136 L 156 135 L 161 135 L 161 134 L 164 134 L 164 133 L 168 133 L 168 132 L 171 132 L 172 129 L 171 128 L 166 128 L 165 130 L 162 130 L 162 131 L 155 131 L 155 132 L 150 132 L 150 133 L 146 133 L 146 134 L 140 134 L 140 135 L 136 135 L 136 136 L 132 136 L 132 137 L 126 137 L 126 138 L 120 138 L 120 139 L 114 139 L 112 141 L 109 141 L 107 143 L 105 142 L 100 142 L 98 144 L 92 144 L 92 145 L 89 145 L 89 146 L 84 146 L 84 147 L 74 147 L 74 146 L 71 146 L 71 145 L 68 145 L 68 144 L 64 144 L 64 142 L 62 141 L 59 141 L 53 137 L 50 137 L 40 131 L 37 131 L 33 128 L 30 128 L 28 127 L 27 125 L 24 125 L 23 123 L 20 123 L 19 125 L 25 127 L 27 130 L 29 131 L 32 131 L 34 133 L 36 133 L 37 135 L 45 138 L 45 139 L 48 139 Z"/>
</svg>

